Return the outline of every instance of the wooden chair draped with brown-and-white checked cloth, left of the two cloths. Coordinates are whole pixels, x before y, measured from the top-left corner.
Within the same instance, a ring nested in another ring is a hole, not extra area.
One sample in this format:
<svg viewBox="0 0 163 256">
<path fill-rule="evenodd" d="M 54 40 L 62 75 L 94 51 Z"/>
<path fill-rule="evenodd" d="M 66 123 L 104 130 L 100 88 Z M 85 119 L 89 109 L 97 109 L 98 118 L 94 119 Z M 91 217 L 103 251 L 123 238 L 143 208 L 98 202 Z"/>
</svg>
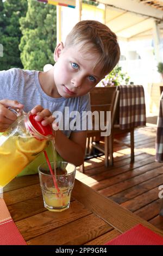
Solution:
<svg viewBox="0 0 163 256">
<path fill-rule="evenodd" d="M 131 149 L 131 162 L 134 162 L 134 129 L 146 125 L 146 106 L 143 86 L 129 85 L 118 86 L 120 94 L 115 116 L 114 129 L 112 130 L 112 143 L 116 141 Z M 118 133 L 130 132 L 130 144 L 114 139 Z"/>
</svg>

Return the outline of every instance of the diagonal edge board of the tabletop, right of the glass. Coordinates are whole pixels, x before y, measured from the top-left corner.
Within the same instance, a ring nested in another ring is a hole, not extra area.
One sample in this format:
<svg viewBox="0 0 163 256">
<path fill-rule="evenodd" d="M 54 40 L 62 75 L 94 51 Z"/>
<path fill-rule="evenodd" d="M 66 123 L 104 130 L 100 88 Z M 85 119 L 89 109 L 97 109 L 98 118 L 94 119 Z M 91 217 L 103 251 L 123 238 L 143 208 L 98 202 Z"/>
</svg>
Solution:
<svg viewBox="0 0 163 256">
<path fill-rule="evenodd" d="M 141 223 L 146 227 L 151 228 L 156 233 L 163 235 L 162 230 L 155 228 L 147 221 L 122 208 L 109 198 L 101 196 L 101 194 L 93 190 L 90 194 L 89 191 L 90 188 L 88 186 L 76 180 L 76 185 L 73 188 L 72 194 L 74 198 L 84 204 L 87 209 L 97 214 L 97 216 L 101 216 L 104 221 L 121 233 L 124 233 L 135 225 Z"/>
</svg>

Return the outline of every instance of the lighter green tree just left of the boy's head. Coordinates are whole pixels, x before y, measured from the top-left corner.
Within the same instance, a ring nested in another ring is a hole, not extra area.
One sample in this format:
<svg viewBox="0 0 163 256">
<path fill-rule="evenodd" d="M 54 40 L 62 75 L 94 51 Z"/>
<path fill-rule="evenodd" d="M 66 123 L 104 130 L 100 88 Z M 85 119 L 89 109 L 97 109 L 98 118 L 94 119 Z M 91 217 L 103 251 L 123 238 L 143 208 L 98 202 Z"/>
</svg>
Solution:
<svg viewBox="0 0 163 256">
<path fill-rule="evenodd" d="M 53 52 L 57 41 L 56 7 L 28 0 L 26 17 L 20 19 L 22 38 L 21 60 L 24 69 L 42 70 L 45 64 L 53 64 Z"/>
</svg>

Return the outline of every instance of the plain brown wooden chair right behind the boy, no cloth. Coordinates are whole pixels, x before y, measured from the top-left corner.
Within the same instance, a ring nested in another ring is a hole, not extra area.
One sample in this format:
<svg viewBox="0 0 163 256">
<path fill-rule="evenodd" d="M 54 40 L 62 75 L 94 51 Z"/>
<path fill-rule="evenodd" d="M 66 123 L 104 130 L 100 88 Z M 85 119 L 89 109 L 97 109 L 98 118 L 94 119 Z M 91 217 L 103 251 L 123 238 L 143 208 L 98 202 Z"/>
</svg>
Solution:
<svg viewBox="0 0 163 256">
<path fill-rule="evenodd" d="M 117 87 L 95 87 L 90 92 L 91 111 L 111 111 L 111 130 L 114 124 L 116 105 L 118 100 Z M 105 116 L 106 118 L 106 116 Z M 91 155 L 93 148 L 98 149 L 105 155 L 105 166 L 112 165 L 112 138 L 111 133 L 109 136 L 104 136 L 104 147 L 99 144 L 102 130 L 95 130 L 95 119 L 92 120 L 93 130 L 87 131 L 86 155 Z M 84 163 L 80 166 L 80 171 L 84 173 Z"/>
</svg>

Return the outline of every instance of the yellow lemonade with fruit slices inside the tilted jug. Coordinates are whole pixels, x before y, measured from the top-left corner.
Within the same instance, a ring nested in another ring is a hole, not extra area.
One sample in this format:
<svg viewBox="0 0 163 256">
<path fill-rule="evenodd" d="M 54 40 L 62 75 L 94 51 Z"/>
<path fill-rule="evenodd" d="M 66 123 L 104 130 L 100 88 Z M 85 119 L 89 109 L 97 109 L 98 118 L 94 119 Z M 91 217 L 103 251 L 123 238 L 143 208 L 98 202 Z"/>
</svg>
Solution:
<svg viewBox="0 0 163 256">
<path fill-rule="evenodd" d="M 7 185 L 46 147 L 32 136 L 0 137 L 0 187 Z"/>
</svg>

